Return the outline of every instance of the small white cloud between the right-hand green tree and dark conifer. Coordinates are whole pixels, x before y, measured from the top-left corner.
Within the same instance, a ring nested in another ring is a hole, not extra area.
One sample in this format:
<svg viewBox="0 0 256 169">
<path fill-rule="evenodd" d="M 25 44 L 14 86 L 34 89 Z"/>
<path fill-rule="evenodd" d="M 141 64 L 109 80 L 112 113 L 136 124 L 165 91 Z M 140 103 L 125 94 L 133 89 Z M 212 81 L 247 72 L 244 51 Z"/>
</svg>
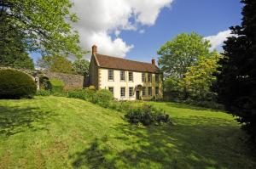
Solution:
<svg viewBox="0 0 256 169">
<path fill-rule="evenodd" d="M 220 31 L 217 35 L 205 37 L 205 39 L 209 40 L 212 44 L 210 50 L 218 49 L 223 45 L 223 42 L 227 39 L 227 37 L 231 37 L 231 31 Z"/>
</svg>

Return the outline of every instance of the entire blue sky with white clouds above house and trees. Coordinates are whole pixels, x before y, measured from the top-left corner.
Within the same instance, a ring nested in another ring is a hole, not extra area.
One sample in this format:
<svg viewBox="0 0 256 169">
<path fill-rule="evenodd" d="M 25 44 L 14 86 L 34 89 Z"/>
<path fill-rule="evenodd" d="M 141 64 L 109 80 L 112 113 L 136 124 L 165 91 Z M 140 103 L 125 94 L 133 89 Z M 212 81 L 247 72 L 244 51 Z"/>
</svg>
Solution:
<svg viewBox="0 0 256 169">
<path fill-rule="evenodd" d="M 166 41 L 195 31 L 222 50 L 229 27 L 241 22 L 239 0 L 73 0 L 81 46 L 150 61 Z M 85 56 L 89 57 L 89 56 Z"/>
</svg>

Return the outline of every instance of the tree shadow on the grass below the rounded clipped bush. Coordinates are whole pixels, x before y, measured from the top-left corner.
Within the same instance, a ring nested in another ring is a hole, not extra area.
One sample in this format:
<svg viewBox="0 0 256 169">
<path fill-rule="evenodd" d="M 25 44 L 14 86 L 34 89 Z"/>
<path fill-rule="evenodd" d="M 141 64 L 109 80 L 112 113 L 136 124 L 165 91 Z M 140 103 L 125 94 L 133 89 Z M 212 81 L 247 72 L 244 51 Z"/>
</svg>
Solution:
<svg viewBox="0 0 256 169">
<path fill-rule="evenodd" d="M 19 132 L 25 132 L 27 129 L 31 131 L 44 130 L 49 115 L 52 113 L 38 108 L 0 105 L 0 134 L 9 137 Z"/>
</svg>

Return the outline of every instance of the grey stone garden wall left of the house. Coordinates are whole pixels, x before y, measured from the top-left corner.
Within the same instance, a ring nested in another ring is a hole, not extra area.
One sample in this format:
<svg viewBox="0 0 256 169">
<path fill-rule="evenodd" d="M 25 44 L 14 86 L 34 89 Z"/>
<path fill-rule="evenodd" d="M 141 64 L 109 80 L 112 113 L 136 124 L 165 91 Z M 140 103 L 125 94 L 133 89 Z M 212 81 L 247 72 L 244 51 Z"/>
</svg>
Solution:
<svg viewBox="0 0 256 169">
<path fill-rule="evenodd" d="M 73 74 L 66 74 L 66 73 L 57 73 L 57 72 L 50 72 L 44 71 L 39 76 L 45 76 L 49 79 L 59 79 L 65 83 L 64 90 L 72 90 L 76 88 L 83 88 L 84 87 L 84 76 L 80 75 L 73 75 Z"/>
</svg>

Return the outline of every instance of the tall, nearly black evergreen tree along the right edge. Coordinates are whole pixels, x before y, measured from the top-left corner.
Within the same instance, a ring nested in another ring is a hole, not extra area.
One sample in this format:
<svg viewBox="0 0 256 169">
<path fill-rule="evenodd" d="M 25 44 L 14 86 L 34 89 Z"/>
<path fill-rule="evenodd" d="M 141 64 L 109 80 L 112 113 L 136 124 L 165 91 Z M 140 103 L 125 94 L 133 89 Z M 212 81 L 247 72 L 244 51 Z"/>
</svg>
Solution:
<svg viewBox="0 0 256 169">
<path fill-rule="evenodd" d="M 256 142 L 256 2 L 242 0 L 241 25 L 230 27 L 236 36 L 224 42 L 224 58 L 217 76 L 218 100 L 238 116 Z"/>
</svg>

